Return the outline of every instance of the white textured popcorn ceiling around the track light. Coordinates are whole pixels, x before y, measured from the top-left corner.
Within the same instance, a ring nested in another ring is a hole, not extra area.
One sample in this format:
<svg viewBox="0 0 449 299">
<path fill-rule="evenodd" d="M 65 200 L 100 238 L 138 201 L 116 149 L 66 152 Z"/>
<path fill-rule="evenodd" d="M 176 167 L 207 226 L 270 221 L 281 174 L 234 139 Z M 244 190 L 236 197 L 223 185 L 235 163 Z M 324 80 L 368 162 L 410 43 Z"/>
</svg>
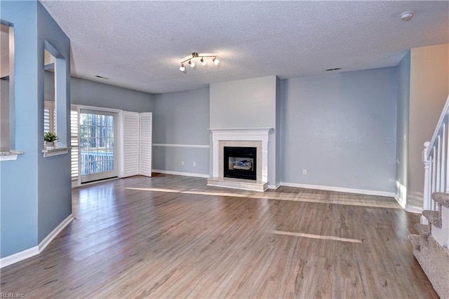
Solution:
<svg viewBox="0 0 449 299">
<path fill-rule="evenodd" d="M 41 3 L 71 40 L 73 76 L 151 93 L 390 67 L 410 48 L 449 43 L 448 1 Z M 413 20 L 401 21 L 410 10 Z M 220 64 L 183 73 L 192 52 Z"/>
</svg>

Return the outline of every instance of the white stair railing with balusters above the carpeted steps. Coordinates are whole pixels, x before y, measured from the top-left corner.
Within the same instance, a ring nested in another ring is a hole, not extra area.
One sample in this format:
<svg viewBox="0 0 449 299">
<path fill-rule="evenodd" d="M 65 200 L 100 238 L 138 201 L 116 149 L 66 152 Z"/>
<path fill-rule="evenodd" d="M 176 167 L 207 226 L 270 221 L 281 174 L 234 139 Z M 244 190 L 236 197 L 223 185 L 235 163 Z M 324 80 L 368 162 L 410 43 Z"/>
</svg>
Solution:
<svg viewBox="0 0 449 299">
<path fill-rule="evenodd" d="M 424 200 L 422 209 L 428 211 L 439 211 L 441 214 L 442 228 L 432 227 L 432 236 L 439 244 L 449 243 L 449 210 L 447 207 L 441 207 L 432 200 L 432 193 L 449 193 L 449 144 L 448 144 L 448 125 L 449 125 L 449 97 L 445 102 L 438 124 L 431 141 L 424 142 L 424 151 L 422 151 L 422 162 L 424 163 Z M 448 211 L 447 211 L 448 210 Z M 421 223 L 427 224 L 427 218 L 421 217 Z M 441 231 L 443 230 L 443 231 Z"/>
</svg>

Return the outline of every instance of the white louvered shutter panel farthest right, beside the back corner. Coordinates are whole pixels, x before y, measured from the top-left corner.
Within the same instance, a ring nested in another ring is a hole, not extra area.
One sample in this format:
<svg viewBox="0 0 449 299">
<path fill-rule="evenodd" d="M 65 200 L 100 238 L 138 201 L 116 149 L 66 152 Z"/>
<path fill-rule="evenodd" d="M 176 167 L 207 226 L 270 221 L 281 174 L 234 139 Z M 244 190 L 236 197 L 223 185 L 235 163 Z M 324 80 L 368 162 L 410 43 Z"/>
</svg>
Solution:
<svg viewBox="0 0 449 299">
<path fill-rule="evenodd" d="M 152 176 L 152 118 L 153 113 L 140 113 L 139 174 Z"/>
</svg>

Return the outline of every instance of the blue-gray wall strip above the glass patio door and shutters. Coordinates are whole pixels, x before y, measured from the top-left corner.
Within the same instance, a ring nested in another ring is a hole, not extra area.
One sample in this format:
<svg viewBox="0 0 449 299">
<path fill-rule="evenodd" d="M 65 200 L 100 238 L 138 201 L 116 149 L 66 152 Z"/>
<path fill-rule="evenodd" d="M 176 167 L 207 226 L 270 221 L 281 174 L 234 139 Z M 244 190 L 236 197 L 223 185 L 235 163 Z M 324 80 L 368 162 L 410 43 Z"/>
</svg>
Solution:
<svg viewBox="0 0 449 299">
<path fill-rule="evenodd" d="M 72 77 L 72 104 L 121 109 L 133 112 L 152 112 L 153 97 L 146 92 L 119 88 Z"/>
</svg>

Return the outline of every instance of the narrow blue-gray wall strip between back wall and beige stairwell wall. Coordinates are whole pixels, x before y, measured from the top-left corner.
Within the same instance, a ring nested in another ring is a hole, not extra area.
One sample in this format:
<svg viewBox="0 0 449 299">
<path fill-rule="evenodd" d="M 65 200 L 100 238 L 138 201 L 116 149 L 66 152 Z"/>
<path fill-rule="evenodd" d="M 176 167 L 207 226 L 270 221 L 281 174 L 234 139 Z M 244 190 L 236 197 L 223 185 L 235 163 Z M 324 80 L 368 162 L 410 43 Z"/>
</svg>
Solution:
<svg viewBox="0 0 449 299">
<path fill-rule="evenodd" d="M 408 127 L 410 123 L 410 51 L 398 64 L 398 116 L 396 121 L 396 197 L 403 206 L 408 191 Z"/>
</svg>

